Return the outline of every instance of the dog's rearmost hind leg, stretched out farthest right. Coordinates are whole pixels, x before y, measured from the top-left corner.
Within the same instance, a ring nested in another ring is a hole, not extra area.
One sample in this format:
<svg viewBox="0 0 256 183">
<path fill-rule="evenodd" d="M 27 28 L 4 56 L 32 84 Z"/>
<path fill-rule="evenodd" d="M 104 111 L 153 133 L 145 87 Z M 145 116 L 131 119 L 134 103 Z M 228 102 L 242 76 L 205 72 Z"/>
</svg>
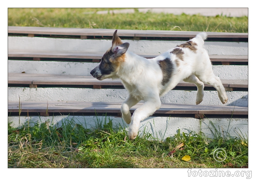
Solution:
<svg viewBox="0 0 256 183">
<path fill-rule="evenodd" d="M 208 72 L 205 75 L 197 76 L 200 81 L 212 85 L 218 92 L 218 96 L 220 98 L 220 101 L 225 104 L 228 101 L 227 94 L 225 92 L 225 88 L 223 84 L 220 81 L 220 78 L 218 76 L 215 76 L 213 72 Z"/>
</svg>

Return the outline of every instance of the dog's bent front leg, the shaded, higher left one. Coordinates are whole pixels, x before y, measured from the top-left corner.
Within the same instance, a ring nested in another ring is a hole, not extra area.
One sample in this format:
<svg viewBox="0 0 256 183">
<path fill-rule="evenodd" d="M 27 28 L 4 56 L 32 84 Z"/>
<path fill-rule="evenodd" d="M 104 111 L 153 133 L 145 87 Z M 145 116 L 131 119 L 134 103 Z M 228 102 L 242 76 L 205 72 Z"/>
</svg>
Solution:
<svg viewBox="0 0 256 183">
<path fill-rule="evenodd" d="M 121 113 L 122 113 L 122 117 L 124 119 L 124 121 L 127 124 L 131 123 L 131 113 L 130 113 L 130 108 L 132 106 L 134 106 L 135 104 L 137 104 L 139 102 L 139 99 L 136 99 L 132 96 L 129 96 L 123 103 L 121 106 Z"/>
</svg>

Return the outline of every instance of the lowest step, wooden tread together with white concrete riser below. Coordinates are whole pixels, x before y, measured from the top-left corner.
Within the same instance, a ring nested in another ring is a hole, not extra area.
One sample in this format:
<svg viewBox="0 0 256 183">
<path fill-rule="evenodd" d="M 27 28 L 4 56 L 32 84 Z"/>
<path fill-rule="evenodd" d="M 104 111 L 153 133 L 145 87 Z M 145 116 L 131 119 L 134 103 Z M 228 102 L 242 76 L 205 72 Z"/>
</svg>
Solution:
<svg viewBox="0 0 256 183">
<path fill-rule="evenodd" d="M 122 126 L 128 130 L 128 125 L 122 118 L 116 117 L 118 113 L 120 114 L 120 103 L 43 101 L 21 102 L 21 104 L 21 107 L 19 107 L 19 101 L 9 102 L 8 104 L 8 120 L 12 122 L 13 127 L 19 127 L 28 121 L 30 125 L 36 122 L 45 123 L 49 121 L 58 128 L 63 123 L 72 121 L 73 123 L 82 124 L 85 128 L 95 128 L 99 121 L 104 123 L 105 118 L 107 118 L 107 120 L 112 120 L 114 127 Z M 132 107 L 131 112 L 140 105 Z M 21 108 L 21 114 L 24 112 L 26 115 L 15 115 L 14 113 L 19 113 L 19 108 Z M 36 115 L 33 115 L 35 112 Z M 69 114 L 65 114 L 67 112 Z M 98 113 L 97 116 L 93 115 L 95 112 Z M 107 116 L 105 116 L 106 112 Z M 27 113 L 29 113 L 28 116 Z M 82 113 L 83 115 L 81 115 Z M 50 116 L 39 116 L 38 114 Z M 197 118 L 195 118 L 196 116 Z M 203 118 L 198 118 L 200 116 Z M 205 116 L 208 117 L 204 118 Z M 222 117 L 216 118 L 214 116 Z M 231 137 L 236 136 L 239 138 L 248 136 L 248 117 L 246 116 L 248 116 L 247 107 L 166 104 L 156 111 L 156 116 L 148 117 L 140 123 L 139 135 L 143 134 L 144 131 L 152 134 L 152 138 L 164 140 L 176 134 L 177 130 L 180 130 L 181 133 L 202 132 L 207 137 L 214 138 L 214 135 L 220 133 L 215 129 L 221 129 L 221 134 L 219 135 L 226 136 L 228 134 Z"/>
</svg>

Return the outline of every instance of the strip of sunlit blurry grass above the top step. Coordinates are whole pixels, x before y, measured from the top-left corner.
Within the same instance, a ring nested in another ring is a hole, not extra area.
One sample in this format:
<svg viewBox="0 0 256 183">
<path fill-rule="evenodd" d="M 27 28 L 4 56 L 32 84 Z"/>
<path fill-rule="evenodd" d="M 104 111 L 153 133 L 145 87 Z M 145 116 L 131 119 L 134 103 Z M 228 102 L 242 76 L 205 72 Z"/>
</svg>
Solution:
<svg viewBox="0 0 256 183">
<path fill-rule="evenodd" d="M 113 9 L 113 8 L 112 8 Z M 248 17 L 164 13 L 96 14 L 108 8 L 8 8 L 8 26 L 183 30 L 248 33 Z M 135 9 L 136 10 L 136 9 Z M 94 13 L 88 13 L 94 12 Z"/>
</svg>

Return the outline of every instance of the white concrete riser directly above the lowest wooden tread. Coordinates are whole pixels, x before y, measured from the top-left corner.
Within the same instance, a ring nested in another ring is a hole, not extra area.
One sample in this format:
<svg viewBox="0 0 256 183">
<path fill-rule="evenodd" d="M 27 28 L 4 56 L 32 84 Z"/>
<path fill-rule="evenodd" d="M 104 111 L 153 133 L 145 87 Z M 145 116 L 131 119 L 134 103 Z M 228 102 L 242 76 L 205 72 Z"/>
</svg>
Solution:
<svg viewBox="0 0 256 183">
<path fill-rule="evenodd" d="M 248 92 L 226 92 L 225 105 L 248 107 Z M 128 93 L 125 89 L 89 88 L 21 88 L 8 87 L 8 101 L 84 101 L 123 102 Z M 171 90 L 161 98 L 162 103 L 195 104 L 196 91 Z M 204 91 L 200 105 L 223 105 L 217 91 Z"/>
</svg>

